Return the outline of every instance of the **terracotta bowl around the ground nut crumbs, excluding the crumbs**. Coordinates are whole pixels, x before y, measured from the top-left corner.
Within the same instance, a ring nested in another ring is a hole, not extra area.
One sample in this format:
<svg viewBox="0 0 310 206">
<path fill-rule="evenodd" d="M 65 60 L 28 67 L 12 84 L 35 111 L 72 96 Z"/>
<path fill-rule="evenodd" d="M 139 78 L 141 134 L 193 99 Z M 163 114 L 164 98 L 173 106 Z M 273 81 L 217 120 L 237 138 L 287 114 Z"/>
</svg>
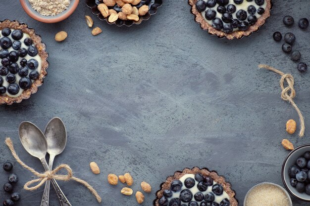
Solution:
<svg viewBox="0 0 310 206">
<path fill-rule="evenodd" d="M 64 10 L 62 13 L 57 14 L 55 16 L 43 16 L 42 14 L 40 14 L 39 12 L 37 12 L 35 9 L 33 9 L 29 3 L 29 0 L 20 0 L 20 3 L 22 5 L 22 7 L 24 8 L 24 10 L 26 11 L 26 13 L 34 18 L 37 21 L 41 21 L 44 23 L 56 23 L 56 22 L 60 22 L 66 18 L 68 18 L 76 9 L 76 7 L 78 6 L 80 0 L 71 0 L 69 7 Z"/>
</svg>

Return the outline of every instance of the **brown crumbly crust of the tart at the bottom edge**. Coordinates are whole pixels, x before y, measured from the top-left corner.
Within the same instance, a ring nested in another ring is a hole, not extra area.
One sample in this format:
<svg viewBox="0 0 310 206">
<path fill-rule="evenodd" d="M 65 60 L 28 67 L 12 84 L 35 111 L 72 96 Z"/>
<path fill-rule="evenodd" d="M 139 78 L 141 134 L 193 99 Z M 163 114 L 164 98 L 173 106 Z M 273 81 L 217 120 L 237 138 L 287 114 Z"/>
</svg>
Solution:
<svg viewBox="0 0 310 206">
<path fill-rule="evenodd" d="M 153 206 L 159 206 L 159 199 L 163 196 L 163 191 L 168 190 L 170 188 L 171 182 L 173 180 L 180 179 L 185 174 L 196 174 L 201 173 L 204 176 L 211 177 L 215 182 L 221 184 L 224 188 L 224 191 L 229 196 L 229 202 L 230 206 L 238 206 L 238 200 L 235 198 L 236 193 L 234 190 L 231 189 L 231 184 L 229 182 L 225 181 L 224 176 L 219 176 L 216 171 L 209 171 L 207 168 L 199 168 L 199 167 L 193 167 L 193 168 L 185 168 L 183 171 L 176 171 L 174 172 L 173 176 L 167 177 L 166 181 L 161 183 L 160 190 L 156 192 L 156 199 L 153 202 Z"/>
</svg>

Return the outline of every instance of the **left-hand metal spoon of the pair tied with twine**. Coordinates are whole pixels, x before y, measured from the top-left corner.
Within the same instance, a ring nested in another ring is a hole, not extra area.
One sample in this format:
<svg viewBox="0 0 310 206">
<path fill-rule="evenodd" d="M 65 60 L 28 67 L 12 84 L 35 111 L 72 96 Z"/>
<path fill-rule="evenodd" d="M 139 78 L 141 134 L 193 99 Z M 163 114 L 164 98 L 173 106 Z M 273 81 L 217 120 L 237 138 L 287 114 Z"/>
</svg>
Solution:
<svg viewBox="0 0 310 206">
<path fill-rule="evenodd" d="M 45 156 L 48 151 L 48 143 L 42 131 L 30 122 L 22 122 L 19 125 L 19 138 L 25 150 L 32 156 L 40 159 L 44 169 L 50 171 Z M 71 206 L 56 180 L 52 179 L 52 185 L 57 194 L 61 206 Z"/>
</svg>

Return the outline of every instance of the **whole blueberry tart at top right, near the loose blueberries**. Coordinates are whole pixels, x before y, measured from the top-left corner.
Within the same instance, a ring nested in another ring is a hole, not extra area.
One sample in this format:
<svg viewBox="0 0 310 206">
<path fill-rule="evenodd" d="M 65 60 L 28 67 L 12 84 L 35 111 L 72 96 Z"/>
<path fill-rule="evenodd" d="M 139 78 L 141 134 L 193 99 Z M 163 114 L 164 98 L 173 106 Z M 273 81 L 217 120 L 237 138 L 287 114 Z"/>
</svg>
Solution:
<svg viewBox="0 0 310 206">
<path fill-rule="evenodd" d="M 270 16 L 271 0 L 189 0 L 195 21 L 211 35 L 241 39 Z"/>
</svg>

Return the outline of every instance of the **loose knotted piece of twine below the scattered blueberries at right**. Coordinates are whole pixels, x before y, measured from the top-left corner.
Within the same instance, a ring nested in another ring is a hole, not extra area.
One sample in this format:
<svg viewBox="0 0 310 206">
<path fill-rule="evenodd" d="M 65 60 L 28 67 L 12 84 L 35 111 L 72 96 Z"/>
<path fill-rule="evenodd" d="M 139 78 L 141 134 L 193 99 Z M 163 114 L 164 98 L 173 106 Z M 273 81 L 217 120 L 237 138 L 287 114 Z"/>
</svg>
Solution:
<svg viewBox="0 0 310 206">
<path fill-rule="evenodd" d="M 304 116 L 302 115 L 300 109 L 297 107 L 297 105 L 295 104 L 295 102 L 293 100 L 295 98 L 295 96 L 296 96 L 296 91 L 294 89 L 294 78 L 293 78 L 293 76 L 291 74 L 284 74 L 280 70 L 277 70 L 277 69 L 275 69 L 273 67 L 270 67 L 268 65 L 259 64 L 258 67 L 259 68 L 267 69 L 269 71 L 272 71 L 272 72 L 274 72 L 276 74 L 281 75 L 281 80 L 280 80 L 280 87 L 282 89 L 282 91 L 281 91 L 281 98 L 284 101 L 290 102 L 291 105 L 296 110 L 296 112 L 298 113 L 299 122 L 300 122 L 299 136 L 300 137 L 304 136 L 304 133 L 305 133 L 305 119 L 304 119 Z M 287 87 L 284 87 L 284 82 L 287 82 Z"/>
</svg>

